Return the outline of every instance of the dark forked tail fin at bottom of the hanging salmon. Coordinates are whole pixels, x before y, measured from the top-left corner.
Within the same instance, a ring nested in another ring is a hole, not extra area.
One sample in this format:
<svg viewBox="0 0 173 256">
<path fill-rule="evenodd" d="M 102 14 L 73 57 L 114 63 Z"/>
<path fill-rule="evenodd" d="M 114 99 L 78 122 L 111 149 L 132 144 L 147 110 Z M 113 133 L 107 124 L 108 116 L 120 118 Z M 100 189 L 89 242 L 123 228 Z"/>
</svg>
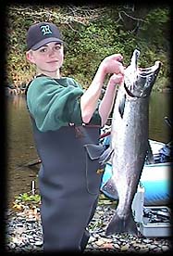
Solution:
<svg viewBox="0 0 173 256">
<path fill-rule="evenodd" d="M 127 217 L 120 217 L 117 212 L 114 214 L 111 222 L 107 225 L 105 236 L 113 235 L 115 233 L 128 233 L 131 235 L 138 235 L 138 229 L 134 222 L 132 212 Z"/>
</svg>

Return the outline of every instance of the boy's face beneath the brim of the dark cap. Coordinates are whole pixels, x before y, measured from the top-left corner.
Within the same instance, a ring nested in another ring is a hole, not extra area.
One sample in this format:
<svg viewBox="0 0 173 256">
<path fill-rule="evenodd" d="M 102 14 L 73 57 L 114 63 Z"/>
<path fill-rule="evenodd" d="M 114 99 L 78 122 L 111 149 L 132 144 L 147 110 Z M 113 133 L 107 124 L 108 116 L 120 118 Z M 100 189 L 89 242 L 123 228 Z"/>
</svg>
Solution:
<svg viewBox="0 0 173 256">
<path fill-rule="evenodd" d="M 43 45 L 38 50 L 30 50 L 26 57 L 31 63 L 35 64 L 37 70 L 46 72 L 56 72 L 63 64 L 64 47 L 62 44 L 52 42 Z"/>
</svg>

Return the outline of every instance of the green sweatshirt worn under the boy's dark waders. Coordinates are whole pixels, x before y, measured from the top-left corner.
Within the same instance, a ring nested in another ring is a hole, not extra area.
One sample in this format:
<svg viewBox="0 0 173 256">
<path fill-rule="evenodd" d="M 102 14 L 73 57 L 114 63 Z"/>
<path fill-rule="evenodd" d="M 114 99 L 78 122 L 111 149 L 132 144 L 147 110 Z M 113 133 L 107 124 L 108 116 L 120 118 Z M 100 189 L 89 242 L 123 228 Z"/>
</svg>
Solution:
<svg viewBox="0 0 173 256">
<path fill-rule="evenodd" d="M 80 83 L 72 78 L 53 79 L 46 76 L 35 78 L 27 92 L 27 106 L 41 132 L 55 131 L 72 122 L 82 123 Z M 92 124 L 101 125 L 98 108 L 93 113 Z"/>
</svg>

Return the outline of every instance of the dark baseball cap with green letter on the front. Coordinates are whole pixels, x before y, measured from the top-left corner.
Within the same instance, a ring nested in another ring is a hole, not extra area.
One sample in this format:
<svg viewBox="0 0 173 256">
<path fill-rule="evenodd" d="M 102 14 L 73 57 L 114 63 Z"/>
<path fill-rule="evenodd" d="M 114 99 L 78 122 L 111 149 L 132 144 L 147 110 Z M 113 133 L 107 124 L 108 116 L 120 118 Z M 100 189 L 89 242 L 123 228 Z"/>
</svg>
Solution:
<svg viewBox="0 0 173 256">
<path fill-rule="evenodd" d="M 31 25 L 27 32 L 27 50 L 37 50 L 51 42 L 63 43 L 61 34 L 55 24 L 40 22 Z"/>
</svg>

